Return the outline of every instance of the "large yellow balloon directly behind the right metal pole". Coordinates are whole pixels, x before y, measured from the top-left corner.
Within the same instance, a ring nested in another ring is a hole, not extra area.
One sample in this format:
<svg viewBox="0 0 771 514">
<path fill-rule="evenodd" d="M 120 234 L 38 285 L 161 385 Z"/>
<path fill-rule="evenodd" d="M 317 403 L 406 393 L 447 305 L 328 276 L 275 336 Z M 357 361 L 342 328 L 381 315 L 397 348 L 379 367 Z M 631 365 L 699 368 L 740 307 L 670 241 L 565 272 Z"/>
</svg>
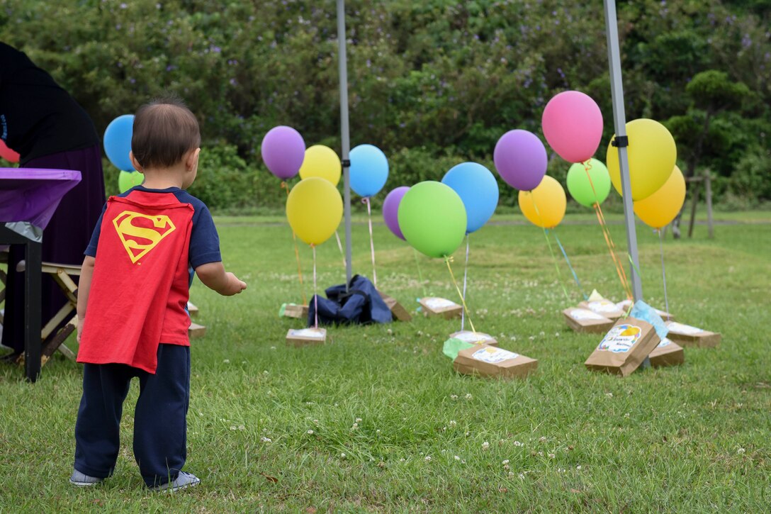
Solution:
<svg viewBox="0 0 771 514">
<path fill-rule="evenodd" d="M 669 130 L 654 120 L 641 118 L 626 124 L 629 146 L 629 178 L 631 199 L 648 198 L 664 185 L 677 160 L 677 147 Z M 615 135 L 613 136 L 615 138 Z M 612 141 L 612 140 L 611 140 Z M 621 192 L 621 172 L 618 170 L 618 150 L 608 144 L 605 162 L 613 187 Z"/>
</svg>

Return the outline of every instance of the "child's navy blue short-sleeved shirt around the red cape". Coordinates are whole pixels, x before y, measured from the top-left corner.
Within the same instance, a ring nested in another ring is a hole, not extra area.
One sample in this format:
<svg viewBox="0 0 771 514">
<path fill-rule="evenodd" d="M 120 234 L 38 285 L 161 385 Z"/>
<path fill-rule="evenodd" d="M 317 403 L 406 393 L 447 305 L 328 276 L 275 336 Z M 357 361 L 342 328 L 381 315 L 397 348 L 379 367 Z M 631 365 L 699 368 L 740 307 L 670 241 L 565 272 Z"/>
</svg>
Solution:
<svg viewBox="0 0 771 514">
<path fill-rule="evenodd" d="M 177 200 L 183 204 L 190 204 L 193 206 L 193 228 L 190 232 L 190 280 L 192 281 L 193 270 L 200 265 L 207 264 L 208 262 L 221 262 L 222 255 L 220 254 L 220 236 L 217 235 L 217 228 L 214 226 L 214 219 L 211 218 L 209 208 L 203 201 L 195 198 L 187 191 L 183 191 L 180 188 L 166 188 L 166 189 L 149 189 L 144 186 L 136 186 L 126 191 L 125 193 L 118 194 L 122 198 L 126 198 L 131 191 L 145 191 L 148 193 L 171 193 Z M 96 257 L 96 246 L 99 244 L 99 232 L 102 228 L 102 217 L 107 205 L 102 208 L 102 214 L 99 215 L 99 221 L 96 222 L 96 228 L 94 228 L 93 235 L 91 235 L 91 242 L 89 242 L 86 248 L 86 255 Z"/>
</svg>

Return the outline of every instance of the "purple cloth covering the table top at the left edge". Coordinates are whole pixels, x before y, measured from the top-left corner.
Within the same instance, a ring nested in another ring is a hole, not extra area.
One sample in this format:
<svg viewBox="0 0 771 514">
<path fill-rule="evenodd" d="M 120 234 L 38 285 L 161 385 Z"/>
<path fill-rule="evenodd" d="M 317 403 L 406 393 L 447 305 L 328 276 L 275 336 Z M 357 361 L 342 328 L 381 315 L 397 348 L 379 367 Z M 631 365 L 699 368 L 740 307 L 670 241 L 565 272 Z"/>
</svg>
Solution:
<svg viewBox="0 0 771 514">
<path fill-rule="evenodd" d="M 45 228 L 79 171 L 0 167 L 0 222 L 29 221 Z"/>
</svg>

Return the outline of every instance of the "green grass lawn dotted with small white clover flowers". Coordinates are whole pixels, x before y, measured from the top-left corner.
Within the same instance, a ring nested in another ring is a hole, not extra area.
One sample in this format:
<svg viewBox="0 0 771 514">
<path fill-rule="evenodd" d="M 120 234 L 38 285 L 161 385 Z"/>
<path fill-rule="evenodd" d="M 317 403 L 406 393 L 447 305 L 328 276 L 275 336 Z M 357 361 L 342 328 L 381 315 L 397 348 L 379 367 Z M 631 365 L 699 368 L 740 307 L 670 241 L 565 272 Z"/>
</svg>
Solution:
<svg viewBox="0 0 771 514">
<path fill-rule="evenodd" d="M 771 216 L 728 218 L 737 223 L 716 226 L 713 240 L 697 225 L 694 238 L 665 242 L 670 311 L 722 333 L 722 344 L 625 379 L 584 368 L 599 338 L 564 325 L 561 309 L 581 295 L 561 261 L 567 303 L 540 229 L 508 215 L 473 234 L 476 329 L 539 360 L 515 381 L 453 372 L 441 348 L 460 321 L 330 328 L 323 347 L 287 347 L 286 331 L 301 326 L 277 315 L 301 299 L 288 226 L 218 218 L 225 264 L 249 289 L 191 289 L 208 328 L 193 341 L 188 416 L 186 469 L 201 485 L 143 488 L 131 451 L 136 384 L 115 475 L 69 485 L 81 369 L 57 354 L 36 384 L 0 368 L 0 512 L 766 510 Z M 571 220 L 583 223 L 558 232 L 584 287 L 621 299 L 600 228 L 588 215 Z M 625 248 L 622 225 L 611 232 Z M 658 238 L 638 225 L 638 242 L 645 299 L 663 308 Z M 375 249 L 380 289 L 414 309 L 424 292 L 412 249 L 382 224 Z M 310 255 L 301 248 L 306 286 Z M 457 299 L 443 262 L 419 262 L 429 294 Z M 372 276 L 359 223 L 354 266 Z M 453 269 L 460 279 L 462 250 Z M 332 238 L 318 248 L 319 289 L 344 281 Z"/>
</svg>

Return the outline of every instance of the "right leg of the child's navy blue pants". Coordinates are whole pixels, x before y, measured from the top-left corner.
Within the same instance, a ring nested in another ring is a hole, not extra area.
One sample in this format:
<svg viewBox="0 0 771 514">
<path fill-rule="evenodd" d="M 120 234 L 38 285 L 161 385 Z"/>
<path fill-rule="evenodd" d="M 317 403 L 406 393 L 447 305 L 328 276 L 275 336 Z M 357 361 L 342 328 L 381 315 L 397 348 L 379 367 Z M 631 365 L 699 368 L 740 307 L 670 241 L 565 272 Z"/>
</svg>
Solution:
<svg viewBox="0 0 771 514">
<path fill-rule="evenodd" d="M 187 458 L 190 347 L 158 346 L 156 373 L 140 374 L 134 457 L 146 485 L 173 481 Z"/>
</svg>

